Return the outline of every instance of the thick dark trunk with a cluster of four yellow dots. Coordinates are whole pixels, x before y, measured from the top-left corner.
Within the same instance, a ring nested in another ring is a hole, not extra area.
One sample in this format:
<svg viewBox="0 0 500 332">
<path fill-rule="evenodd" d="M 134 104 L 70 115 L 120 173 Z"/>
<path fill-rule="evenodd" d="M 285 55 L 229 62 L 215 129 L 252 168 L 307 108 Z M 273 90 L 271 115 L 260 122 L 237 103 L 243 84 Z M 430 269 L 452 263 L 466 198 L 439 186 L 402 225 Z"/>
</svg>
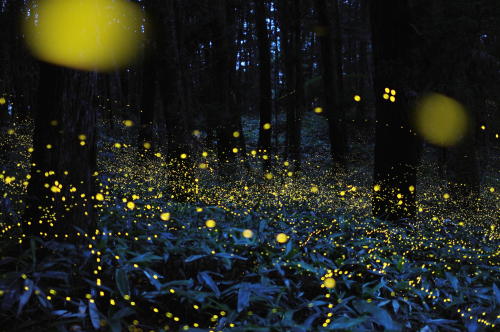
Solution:
<svg viewBox="0 0 500 332">
<path fill-rule="evenodd" d="M 370 8 L 375 62 L 376 134 L 373 215 L 396 221 L 415 216 L 417 138 L 409 126 L 412 33 L 407 0 Z M 396 93 L 394 102 L 384 98 Z"/>
</svg>

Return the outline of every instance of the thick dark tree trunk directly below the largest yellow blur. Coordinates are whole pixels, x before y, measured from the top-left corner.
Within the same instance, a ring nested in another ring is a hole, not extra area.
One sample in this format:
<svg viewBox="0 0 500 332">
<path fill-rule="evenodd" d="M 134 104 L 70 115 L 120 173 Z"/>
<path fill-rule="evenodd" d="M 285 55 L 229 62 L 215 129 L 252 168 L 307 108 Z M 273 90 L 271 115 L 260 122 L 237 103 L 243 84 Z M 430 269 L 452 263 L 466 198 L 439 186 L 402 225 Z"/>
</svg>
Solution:
<svg viewBox="0 0 500 332">
<path fill-rule="evenodd" d="M 77 241 L 75 227 L 87 233 L 95 228 L 95 79 L 93 73 L 40 64 L 27 234 Z"/>
</svg>

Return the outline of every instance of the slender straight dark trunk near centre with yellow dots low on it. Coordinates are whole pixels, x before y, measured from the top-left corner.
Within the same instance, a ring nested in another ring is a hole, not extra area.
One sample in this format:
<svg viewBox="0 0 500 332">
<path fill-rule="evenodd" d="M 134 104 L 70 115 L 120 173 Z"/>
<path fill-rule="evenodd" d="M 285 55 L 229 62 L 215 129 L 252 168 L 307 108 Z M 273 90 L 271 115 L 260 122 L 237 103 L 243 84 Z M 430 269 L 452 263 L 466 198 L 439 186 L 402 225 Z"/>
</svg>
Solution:
<svg viewBox="0 0 500 332">
<path fill-rule="evenodd" d="M 255 20 L 259 49 L 259 150 L 264 158 L 264 170 L 271 166 L 271 45 L 267 31 L 267 1 L 255 1 Z"/>
</svg>

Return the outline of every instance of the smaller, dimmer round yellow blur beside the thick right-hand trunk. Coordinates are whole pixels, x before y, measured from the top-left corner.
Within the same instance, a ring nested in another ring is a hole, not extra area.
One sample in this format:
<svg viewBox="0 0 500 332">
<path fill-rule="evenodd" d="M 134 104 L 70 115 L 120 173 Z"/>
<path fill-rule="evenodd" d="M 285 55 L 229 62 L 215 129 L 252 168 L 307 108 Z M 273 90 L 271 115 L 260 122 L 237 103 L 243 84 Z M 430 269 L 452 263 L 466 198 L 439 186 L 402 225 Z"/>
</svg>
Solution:
<svg viewBox="0 0 500 332">
<path fill-rule="evenodd" d="M 422 137 L 432 144 L 452 146 L 467 132 L 468 116 L 456 100 L 433 93 L 417 106 L 415 126 Z"/>
</svg>

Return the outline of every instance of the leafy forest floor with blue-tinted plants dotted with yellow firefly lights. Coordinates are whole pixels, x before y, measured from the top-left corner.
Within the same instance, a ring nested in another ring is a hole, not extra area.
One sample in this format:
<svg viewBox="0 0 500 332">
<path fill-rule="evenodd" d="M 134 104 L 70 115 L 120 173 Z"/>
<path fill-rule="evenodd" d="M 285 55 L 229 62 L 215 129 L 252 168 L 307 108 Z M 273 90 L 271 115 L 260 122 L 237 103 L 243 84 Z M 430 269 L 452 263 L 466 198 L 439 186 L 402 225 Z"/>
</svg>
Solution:
<svg viewBox="0 0 500 332">
<path fill-rule="evenodd" d="M 30 126 L 2 145 L 0 326 L 10 331 L 481 331 L 500 326 L 499 177 L 483 208 L 450 211 L 434 163 L 422 163 L 417 220 L 370 217 L 372 146 L 328 168 L 326 124 L 304 120 L 302 172 L 257 157 L 217 176 L 210 151 L 188 202 L 167 191 L 162 154 L 137 157 L 117 126 L 99 141 L 98 232 L 83 247 L 45 241 L 14 256 L 29 172 Z M 248 151 L 255 119 L 244 121 Z M 120 137 L 120 140 L 117 139 Z M 279 143 L 279 141 L 278 141 Z M 279 144 L 278 144 L 279 145 Z M 323 149 L 323 150 L 322 150 Z M 200 150 L 200 154 L 201 154 Z M 429 159 L 429 158 L 427 158 Z M 199 164 L 197 164 L 199 165 Z M 496 188 L 496 190 L 495 190 Z M 131 204 L 132 203 L 132 204 Z M 7 210 L 8 208 L 8 210 Z M 451 213 L 453 212 L 453 214 Z M 495 327 L 496 325 L 496 327 Z"/>
</svg>

